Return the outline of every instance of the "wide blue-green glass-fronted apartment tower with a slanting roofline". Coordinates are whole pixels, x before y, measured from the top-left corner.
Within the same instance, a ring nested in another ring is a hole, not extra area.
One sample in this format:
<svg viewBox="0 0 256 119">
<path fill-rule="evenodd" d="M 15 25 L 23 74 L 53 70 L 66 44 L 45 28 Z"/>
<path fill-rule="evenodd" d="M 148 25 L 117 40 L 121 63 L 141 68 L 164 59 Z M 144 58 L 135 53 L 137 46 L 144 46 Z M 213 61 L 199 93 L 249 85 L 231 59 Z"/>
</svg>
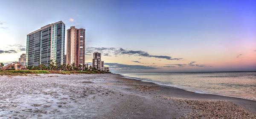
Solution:
<svg viewBox="0 0 256 119">
<path fill-rule="evenodd" d="M 27 35 L 26 65 L 48 66 L 50 60 L 63 64 L 65 24 L 62 21 L 48 24 Z"/>
</svg>

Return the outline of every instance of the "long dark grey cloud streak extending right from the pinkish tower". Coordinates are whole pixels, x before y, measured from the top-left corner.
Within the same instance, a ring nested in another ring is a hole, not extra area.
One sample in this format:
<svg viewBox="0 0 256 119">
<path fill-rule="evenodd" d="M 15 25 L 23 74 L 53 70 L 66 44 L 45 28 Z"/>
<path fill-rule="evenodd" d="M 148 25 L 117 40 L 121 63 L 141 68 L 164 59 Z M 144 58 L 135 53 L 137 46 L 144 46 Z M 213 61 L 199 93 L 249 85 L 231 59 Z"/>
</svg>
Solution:
<svg viewBox="0 0 256 119">
<path fill-rule="evenodd" d="M 141 57 L 148 57 L 148 58 L 162 58 L 166 60 L 180 60 L 183 58 L 172 58 L 171 56 L 166 55 L 150 55 L 148 52 L 145 51 L 134 51 L 134 50 L 126 50 L 122 48 L 105 48 L 105 47 L 88 47 L 86 49 L 86 53 L 93 53 L 93 52 L 108 52 L 112 53 L 113 55 L 135 55 L 135 56 L 141 56 Z"/>
</svg>

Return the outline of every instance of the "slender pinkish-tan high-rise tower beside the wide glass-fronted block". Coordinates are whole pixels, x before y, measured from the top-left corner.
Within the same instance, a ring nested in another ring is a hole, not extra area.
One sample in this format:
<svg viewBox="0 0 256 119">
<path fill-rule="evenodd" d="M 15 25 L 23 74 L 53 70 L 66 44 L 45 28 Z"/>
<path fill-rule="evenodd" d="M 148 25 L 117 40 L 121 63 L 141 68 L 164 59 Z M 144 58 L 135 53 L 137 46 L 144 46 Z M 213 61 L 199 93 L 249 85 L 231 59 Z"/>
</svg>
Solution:
<svg viewBox="0 0 256 119">
<path fill-rule="evenodd" d="M 85 63 L 85 29 L 76 29 L 71 26 L 67 29 L 67 58 L 66 64 L 79 64 Z"/>
</svg>

